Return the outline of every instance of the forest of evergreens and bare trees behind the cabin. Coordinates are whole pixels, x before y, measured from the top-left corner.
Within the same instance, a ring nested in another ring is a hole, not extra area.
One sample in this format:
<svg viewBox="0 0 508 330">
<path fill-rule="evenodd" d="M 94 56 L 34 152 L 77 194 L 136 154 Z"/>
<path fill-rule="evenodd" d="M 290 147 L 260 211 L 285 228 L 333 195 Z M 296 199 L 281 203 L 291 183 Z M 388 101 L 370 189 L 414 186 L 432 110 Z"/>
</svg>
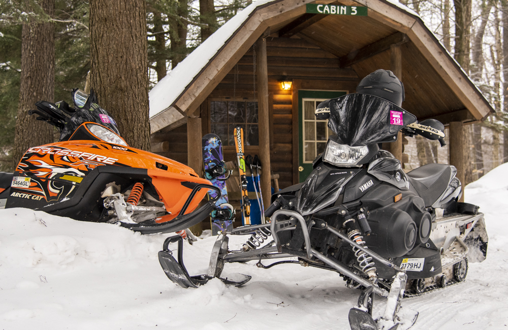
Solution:
<svg viewBox="0 0 508 330">
<path fill-rule="evenodd" d="M 27 144 L 37 145 L 35 141 L 27 141 L 24 145 L 20 142 L 21 137 L 34 135 L 34 128 L 26 123 L 25 114 L 35 108 L 32 105 L 24 109 L 26 95 L 31 90 L 22 83 L 22 70 L 37 66 L 37 57 L 34 63 L 22 61 L 21 50 L 27 47 L 28 35 L 26 30 L 23 33 L 23 28 L 39 24 L 49 29 L 54 39 L 39 37 L 37 42 L 39 47 L 54 47 L 54 58 L 47 60 L 41 56 L 38 60 L 53 61 L 53 67 L 49 65 L 48 68 L 54 70 L 54 77 L 40 84 L 52 85 L 45 91 L 50 95 L 46 101 L 69 101 L 72 88 L 86 89 L 90 81 L 94 82 L 91 67 L 98 55 L 90 51 L 90 35 L 104 28 L 101 23 L 106 20 L 97 19 L 104 17 L 99 15 L 104 14 L 101 11 L 115 10 L 104 3 L 94 0 L 6 0 L 0 3 L 0 171 L 13 171 Z M 141 33 L 146 34 L 148 79 L 143 88 L 149 90 L 251 0 L 133 0 L 132 3 L 140 4 L 141 13 L 146 14 L 146 22 L 142 22 L 146 29 L 143 26 Z M 508 161 L 508 1 L 402 0 L 401 3 L 420 15 L 497 112 L 483 123 L 465 126 L 465 136 L 469 140 L 465 143 L 469 168 L 467 184 Z M 108 110 L 113 108 L 105 106 L 101 98 L 100 103 Z M 57 139 L 56 130 L 48 132 L 49 139 Z M 47 141 L 48 137 L 45 139 Z M 446 148 L 438 149 L 438 144 L 421 137 L 411 140 L 405 148 L 405 153 L 409 154 L 406 168 L 429 162 L 448 163 Z M 136 143 L 130 144 L 136 146 Z M 149 141 L 138 147 L 149 150 Z"/>
</svg>

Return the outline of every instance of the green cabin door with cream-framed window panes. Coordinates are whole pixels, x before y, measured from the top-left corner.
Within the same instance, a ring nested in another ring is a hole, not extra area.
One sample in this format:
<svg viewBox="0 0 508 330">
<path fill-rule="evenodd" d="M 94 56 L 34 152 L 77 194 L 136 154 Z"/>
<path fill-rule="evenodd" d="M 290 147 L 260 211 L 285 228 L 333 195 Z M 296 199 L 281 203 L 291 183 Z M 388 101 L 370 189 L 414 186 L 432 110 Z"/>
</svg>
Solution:
<svg viewBox="0 0 508 330">
<path fill-rule="evenodd" d="M 314 110 L 320 102 L 345 95 L 344 91 L 299 90 L 299 166 L 300 182 L 305 181 L 312 172 L 312 161 L 325 151 L 328 136 L 328 120 L 317 119 Z"/>
</svg>

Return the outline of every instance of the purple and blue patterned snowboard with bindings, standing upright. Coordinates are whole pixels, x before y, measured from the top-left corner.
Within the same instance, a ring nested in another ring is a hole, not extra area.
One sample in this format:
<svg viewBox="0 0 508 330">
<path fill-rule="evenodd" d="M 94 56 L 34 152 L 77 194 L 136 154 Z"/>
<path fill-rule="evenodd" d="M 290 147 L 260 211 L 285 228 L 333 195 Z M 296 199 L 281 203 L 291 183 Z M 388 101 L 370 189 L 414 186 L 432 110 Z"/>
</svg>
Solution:
<svg viewBox="0 0 508 330">
<path fill-rule="evenodd" d="M 226 180 L 231 174 L 224 163 L 223 148 L 220 138 L 215 134 L 207 134 L 202 140 L 203 164 L 205 178 L 220 189 L 220 198 L 215 202 L 215 208 L 210 213 L 210 226 L 212 235 L 218 235 L 226 230 L 233 230 L 234 209 L 228 201 Z M 210 190 L 208 199 L 217 196 L 217 192 Z"/>
</svg>

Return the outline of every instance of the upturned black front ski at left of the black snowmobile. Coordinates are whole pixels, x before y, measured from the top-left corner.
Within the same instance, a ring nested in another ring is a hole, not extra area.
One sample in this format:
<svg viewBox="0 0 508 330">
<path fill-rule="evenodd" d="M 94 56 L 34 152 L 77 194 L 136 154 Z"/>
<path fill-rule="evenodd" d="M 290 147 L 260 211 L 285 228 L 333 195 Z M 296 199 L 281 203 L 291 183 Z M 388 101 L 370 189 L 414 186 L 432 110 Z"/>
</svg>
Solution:
<svg viewBox="0 0 508 330">
<path fill-rule="evenodd" d="M 178 261 L 173 256 L 171 250 L 168 249 L 169 244 L 175 242 L 178 242 Z M 164 273 L 166 273 L 166 276 L 181 287 L 197 288 L 213 278 L 208 275 L 190 276 L 188 274 L 185 266 L 183 265 L 183 239 L 179 235 L 168 237 L 164 241 L 163 250 L 159 251 L 158 259 Z M 239 286 L 247 283 L 250 278 L 251 277 L 248 275 L 236 274 L 234 278 L 219 278 L 219 280 L 223 281 L 226 285 Z"/>
</svg>

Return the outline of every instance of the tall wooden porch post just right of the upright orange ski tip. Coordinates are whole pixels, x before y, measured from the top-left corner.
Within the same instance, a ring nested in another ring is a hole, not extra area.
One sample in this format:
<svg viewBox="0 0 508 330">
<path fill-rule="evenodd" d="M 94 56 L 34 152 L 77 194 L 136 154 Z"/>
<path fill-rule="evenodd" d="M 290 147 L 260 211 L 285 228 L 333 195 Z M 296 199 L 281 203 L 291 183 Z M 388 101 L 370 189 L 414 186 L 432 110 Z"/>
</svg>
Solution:
<svg viewBox="0 0 508 330">
<path fill-rule="evenodd" d="M 266 61 L 266 39 L 256 42 L 256 85 L 258 90 L 259 114 L 259 155 L 262 163 L 261 192 L 265 208 L 270 205 L 271 169 L 270 169 L 270 120 L 268 107 L 268 65 Z M 264 210 L 262 210 L 263 212 Z"/>
</svg>

